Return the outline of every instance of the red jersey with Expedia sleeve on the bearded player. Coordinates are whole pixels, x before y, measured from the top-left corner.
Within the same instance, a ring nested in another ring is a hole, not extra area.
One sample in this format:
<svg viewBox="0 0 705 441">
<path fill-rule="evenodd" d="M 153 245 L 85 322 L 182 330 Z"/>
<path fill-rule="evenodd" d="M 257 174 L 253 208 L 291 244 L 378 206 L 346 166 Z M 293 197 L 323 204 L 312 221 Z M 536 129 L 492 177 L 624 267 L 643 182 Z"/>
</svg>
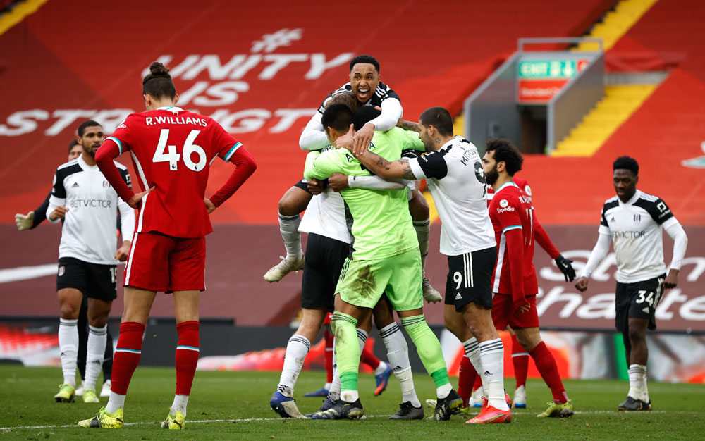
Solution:
<svg viewBox="0 0 705 441">
<path fill-rule="evenodd" d="M 489 217 L 497 240 L 497 263 L 492 291 L 513 295 L 515 301 L 537 294 L 534 270 L 534 210 L 531 199 L 514 182 L 507 182 L 494 194 Z"/>
</svg>

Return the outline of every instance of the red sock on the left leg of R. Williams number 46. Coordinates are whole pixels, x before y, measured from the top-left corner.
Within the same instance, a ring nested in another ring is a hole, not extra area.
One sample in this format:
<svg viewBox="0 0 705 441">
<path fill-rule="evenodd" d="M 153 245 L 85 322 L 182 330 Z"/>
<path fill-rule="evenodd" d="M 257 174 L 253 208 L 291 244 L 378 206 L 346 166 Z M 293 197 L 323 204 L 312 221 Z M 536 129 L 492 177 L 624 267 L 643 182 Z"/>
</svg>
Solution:
<svg viewBox="0 0 705 441">
<path fill-rule="evenodd" d="M 120 325 L 120 336 L 113 357 L 113 377 L 111 392 L 126 395 L 130 379 L 140 364 L 142 355 L 142 336 L 145 335 L 145 325 L 134 321 Z"/>
</svg>

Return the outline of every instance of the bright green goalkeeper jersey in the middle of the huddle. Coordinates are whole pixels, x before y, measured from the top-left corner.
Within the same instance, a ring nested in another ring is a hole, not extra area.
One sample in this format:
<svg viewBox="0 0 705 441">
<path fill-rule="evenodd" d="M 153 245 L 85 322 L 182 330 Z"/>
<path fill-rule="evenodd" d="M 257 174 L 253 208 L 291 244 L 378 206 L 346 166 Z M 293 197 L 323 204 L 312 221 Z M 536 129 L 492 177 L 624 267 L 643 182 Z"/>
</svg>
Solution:
<svg viewBox="0 0 705 441">
<path fill-rule="evenodd" d="M 405 149 L 424 150 L 417 132 L 391 128 L 374 132 L 369 151 L 387 161 L 401 158 Z M 369 170 L 350 151 L 324 151 L 304 170 L 306 179 L 326 179 L 333 173 L 369 176 Z M 419 242 L 409 214 L 407 190 L 366 190 L 350 188 L 341 192 L 345 201 L 345 219 L 353 242 L 351 259 L 374 260 L 418 248 Z"/>
</svg>

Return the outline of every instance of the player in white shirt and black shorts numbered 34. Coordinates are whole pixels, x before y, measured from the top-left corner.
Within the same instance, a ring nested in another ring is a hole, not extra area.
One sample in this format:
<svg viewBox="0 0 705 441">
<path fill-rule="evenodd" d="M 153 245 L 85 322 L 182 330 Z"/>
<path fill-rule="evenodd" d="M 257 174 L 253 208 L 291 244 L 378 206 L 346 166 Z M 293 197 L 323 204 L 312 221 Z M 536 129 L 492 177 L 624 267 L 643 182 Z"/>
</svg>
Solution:
<svg viewBox="0 0 705 441">
<path fill-rule="evenodd" d="M 610 240 L 617 256 L 615 325 L 622 333 L 629 365 L 629 392 L 620 411 L 650 411 L 646 387 L 646 330 L 656 329 L 656 306 L 664 290 L 678 286 L 678 272 L 688 237 L 661 198 L 637 190 L 639 164 L 629 156 L 613 163 L 617 196 L 602 207 L 599 236 L 575 287 L 584 292 L 587 280 L 607 256 Z M 663 262 L 663 230 L 673 239 L 668 275 Z"/>
</svg>

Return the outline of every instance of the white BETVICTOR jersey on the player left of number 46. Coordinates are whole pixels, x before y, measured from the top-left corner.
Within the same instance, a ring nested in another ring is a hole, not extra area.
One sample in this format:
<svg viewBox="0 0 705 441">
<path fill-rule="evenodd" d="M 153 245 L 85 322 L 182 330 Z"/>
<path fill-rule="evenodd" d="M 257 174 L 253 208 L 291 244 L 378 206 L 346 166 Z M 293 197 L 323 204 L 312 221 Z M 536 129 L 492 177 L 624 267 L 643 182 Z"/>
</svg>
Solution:
<svg viewBox="0 0 705 441">
<path fill-rule="evenodd" d="M 118 162 L 115 165 L 130 185 L 128 169 Z M 47 220 L 57 206 L 68 207 L 61 229 L 60 258 L 73 257 L 102 265 L 117 263 L 117 210 L 123 240 L 133 238 L 135 211 L 118 197 L 97 166 L 89 166 L 82 156 L 59 166 L 54 174 Z"/>
</svg>

